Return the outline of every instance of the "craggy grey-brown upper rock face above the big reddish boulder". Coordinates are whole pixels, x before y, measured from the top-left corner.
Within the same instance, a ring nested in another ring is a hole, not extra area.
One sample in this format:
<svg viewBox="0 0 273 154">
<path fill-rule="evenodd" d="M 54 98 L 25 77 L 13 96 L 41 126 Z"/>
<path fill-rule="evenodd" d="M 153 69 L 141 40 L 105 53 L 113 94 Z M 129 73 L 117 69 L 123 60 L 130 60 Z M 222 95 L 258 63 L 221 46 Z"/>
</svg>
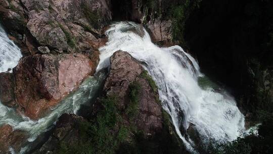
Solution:
<svg viewBox="0 0 273 154">
<path fill-rule="evenodd" d="M 100 29 L 112 19 L 108 0 L 0 1 L 0 17 L 21 49 L 37 47 L 65 52 L 98 49 Z"/>
</svg>

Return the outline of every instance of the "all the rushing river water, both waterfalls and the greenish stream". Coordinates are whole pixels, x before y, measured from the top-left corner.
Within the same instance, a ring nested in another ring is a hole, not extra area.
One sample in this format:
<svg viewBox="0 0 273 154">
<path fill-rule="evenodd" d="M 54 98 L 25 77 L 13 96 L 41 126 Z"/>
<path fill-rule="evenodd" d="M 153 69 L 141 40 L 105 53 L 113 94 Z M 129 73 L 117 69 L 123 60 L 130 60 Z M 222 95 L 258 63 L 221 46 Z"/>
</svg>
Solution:
<svg viewBox="0 0 273 154">
<path fill-rule="evenodd" d="M 163 108 L 171 115 L 177 134 L 189 150 L 194 147 L 193 139 L 185 135 L 190 126 L 198 131 L 203 141 L 231 141 L 239 136 L 239 131 L 244 130 L 244 116 L 234 98 L 222 90 L 215 92 L 217 86 L 207 80 L 197 61 L 181 47 L 159 48 L 142 28 L 132 22 L 111 25 L 106 31 L 109 40 L 100 48 L 101 60 L 96 75 L 86 79 L 79 90 L 38 121 L 32 121 L 0 102 L 0 126 L 9 124 L 29 134 L 29 144 L 22 147 L 21 153 L 29 149 L 38 135 L 48 131 L 61 114 L 77 113 L 81 105 L 94 99 L 106 78 L 106 73 L 100 70 L 109 68 L 109 57 L 117 50 L 127 51 L 144 63 L 157 83 Z M 143 36 L 135 33 L 142 30 Z M 0 72 L 15 67 L 21 57 L 20 49 L 0 26 Z"/>
</svg>

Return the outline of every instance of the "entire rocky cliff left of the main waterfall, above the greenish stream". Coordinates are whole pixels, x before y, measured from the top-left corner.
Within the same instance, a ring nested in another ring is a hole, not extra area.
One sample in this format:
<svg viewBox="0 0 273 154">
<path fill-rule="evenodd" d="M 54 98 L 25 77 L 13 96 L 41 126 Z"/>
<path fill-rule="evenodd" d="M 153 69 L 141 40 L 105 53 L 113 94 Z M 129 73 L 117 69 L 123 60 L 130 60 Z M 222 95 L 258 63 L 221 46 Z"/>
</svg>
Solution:
<svg viewBox="0 0 273 154">
<path fill-rule="evenodd" d="M 0 98 L 37 120 L 95 73 L 97 50 L 106 39 L 102 28 L 112 19 L 110 2 L 3 0 L 0 4 L 2 24 L 24 55 L 12 74 L 1 73 Z"/>
</svg>

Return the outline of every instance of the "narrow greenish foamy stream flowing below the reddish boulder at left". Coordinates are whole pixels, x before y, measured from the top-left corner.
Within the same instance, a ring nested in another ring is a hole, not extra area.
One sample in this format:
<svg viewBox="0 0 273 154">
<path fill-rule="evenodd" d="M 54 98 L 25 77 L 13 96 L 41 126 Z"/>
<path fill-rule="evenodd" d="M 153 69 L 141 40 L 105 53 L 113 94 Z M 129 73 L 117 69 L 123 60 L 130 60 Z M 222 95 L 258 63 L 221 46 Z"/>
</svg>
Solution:
<svg viewBox="0 0 273 154">
<path fill-rule="evenodd" d="M 48 131 L 49 127 L 63 113 L 77 113 L 81 105 L 89 103 L 102 85 L 102 81 L 105 77 L 105 73 L 103 72 L 99 72 L 95 76 L 90 76 L 82 83 L 77 91 L 66 97 L 59 105 L 54 107 L 49 114 L 38 121 L 33 121 L 23 115 L 19 115 L 14 109 L 0 103 L 0 126 L 9 124 L 14 129 L 25 130 L 29 133 L 28 141 L 32 142 L 39 134 Z"/>
</svg>

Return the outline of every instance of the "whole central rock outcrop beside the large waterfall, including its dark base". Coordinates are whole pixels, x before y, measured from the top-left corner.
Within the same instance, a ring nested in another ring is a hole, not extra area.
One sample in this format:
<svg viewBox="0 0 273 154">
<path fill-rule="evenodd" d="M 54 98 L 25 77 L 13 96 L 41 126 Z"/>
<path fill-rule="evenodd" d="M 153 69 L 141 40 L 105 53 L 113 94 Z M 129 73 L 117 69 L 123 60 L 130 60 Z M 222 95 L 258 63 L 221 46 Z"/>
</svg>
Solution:
<svg viewBox="0 0 273 154">
<path fill-rule="evenodd" d="M 123 51 L 116 51 L 111 56 L 110 62 L 111 69 L 104 91 L 108 97 L 116 98 L 118 112 L 124 125 L 136 128 L 143 135 L 139 136 L 137 132 L 130 130 L 131 135 L 126 139 L 127 142 L 134 140 L 137 148 L 138 146 L 145 148 L 141 149 L 144 153 L 149 150 L 155 153 L 185 151 L 168 113 L 161 106 L 156 84 L 141 63 Z M 132 144 L 131 141 L 128 143 Z M 152 144 L 157 148 L 147 147 L 142 143 Z M 126 145 L 120 145 L 117 153 L 133 151 L 132 149 L 135 148 Z"/>
</svg>

